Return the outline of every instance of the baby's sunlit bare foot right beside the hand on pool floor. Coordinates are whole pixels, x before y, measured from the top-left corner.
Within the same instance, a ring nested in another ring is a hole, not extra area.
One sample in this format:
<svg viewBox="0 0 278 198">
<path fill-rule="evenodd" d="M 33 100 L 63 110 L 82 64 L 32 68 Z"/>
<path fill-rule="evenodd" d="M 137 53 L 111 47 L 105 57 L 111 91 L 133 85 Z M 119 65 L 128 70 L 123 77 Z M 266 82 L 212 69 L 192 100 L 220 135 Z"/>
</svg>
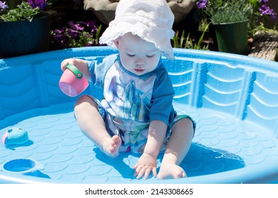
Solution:
<svg viewBox="0 0 278 198">
<path fill-rule="evenodd" d="M 163 179 L 177 179 L 181 177 L 187 177 L 185 170 L 179 165 L 176 165 L 173 162 L 164 162 L 161 163 L 161 168 L 157 175 L 159 180 Z"/>
</svg>

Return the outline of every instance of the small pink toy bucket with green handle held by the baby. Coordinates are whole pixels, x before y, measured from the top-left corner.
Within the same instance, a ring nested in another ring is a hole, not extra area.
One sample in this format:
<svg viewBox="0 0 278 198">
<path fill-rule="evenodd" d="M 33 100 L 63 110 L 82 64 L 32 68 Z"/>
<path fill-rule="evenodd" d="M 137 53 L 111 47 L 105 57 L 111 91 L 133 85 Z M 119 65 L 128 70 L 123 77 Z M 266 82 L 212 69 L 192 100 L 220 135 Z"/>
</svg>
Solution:
<svg viewBox="0 0 278 198">
<path fill-rule="evenodd" d="M 59 88 L 61 91 L 71 97 L 75 97 L 82 93 L 88 85 L 87 79 L 73 64 L 66 66 L 59 81 Z"/>
</svg>

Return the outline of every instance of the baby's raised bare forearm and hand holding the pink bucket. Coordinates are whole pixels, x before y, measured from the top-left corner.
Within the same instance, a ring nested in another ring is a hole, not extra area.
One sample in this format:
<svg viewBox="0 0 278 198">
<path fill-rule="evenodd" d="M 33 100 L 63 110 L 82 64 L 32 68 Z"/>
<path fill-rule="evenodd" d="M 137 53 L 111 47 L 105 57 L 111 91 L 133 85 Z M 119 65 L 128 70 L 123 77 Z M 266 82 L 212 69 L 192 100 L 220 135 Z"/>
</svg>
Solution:
<svg viewBox="0 0 278 198">
<path fill-rule="evenodd" d="M 87 65 L 87 62 L 85 60 L 82 60 L 82 59 L 64 59 L 64 61 L 62 61 L 62 63 L 61 63 L 62 71 L 64 71 L 64 69 L 66 69 L 66 66 L 68 64 L 74 64 L 74 66 L 76 66 L 81 71 L 83 76 L 85 76 L 85 78 L 88 81 L 91 81 L 91 76 L 90 76 L 90 73 L 88 71 L 88 65 Z"/>
</svg>

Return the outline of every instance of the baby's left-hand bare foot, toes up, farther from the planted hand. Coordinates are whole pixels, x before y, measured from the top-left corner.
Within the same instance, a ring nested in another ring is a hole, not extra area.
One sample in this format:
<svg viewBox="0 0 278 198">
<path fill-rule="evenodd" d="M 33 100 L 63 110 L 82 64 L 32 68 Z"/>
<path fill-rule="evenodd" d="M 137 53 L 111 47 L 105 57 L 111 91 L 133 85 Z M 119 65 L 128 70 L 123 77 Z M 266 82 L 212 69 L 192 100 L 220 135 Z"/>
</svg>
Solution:
<svg viewBox="0 0 278 198">
<path fill-rule="evenodd" d="M 116 158 L 119 155 L 119 148 L 122 144 L 120 136 L 112 136 L 111 138 L 105 138 L 101 141 L 100 150 L 111 158 Z"/>
</svg>

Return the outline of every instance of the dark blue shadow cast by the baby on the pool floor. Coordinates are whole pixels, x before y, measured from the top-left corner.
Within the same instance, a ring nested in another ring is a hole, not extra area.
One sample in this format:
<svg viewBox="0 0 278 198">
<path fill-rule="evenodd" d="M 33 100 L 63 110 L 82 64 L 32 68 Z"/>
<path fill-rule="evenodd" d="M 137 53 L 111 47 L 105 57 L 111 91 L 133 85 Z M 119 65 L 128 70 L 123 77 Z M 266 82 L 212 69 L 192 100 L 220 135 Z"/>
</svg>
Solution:
<svg viewBox="0 0 278 198">
<path fill-rule="evenodd" d="M 112 166 L 122 175 L 122 178 L 135 179 L 132 166 L 135 165 L 137 158 L 139 158 L 141 154 L 127 152 L 120 153 L 117 158 L 109 158 L 98 148 L 94 148 L 93 151 L 95 152 L 95 158 Z M 124 160 L 131 158 L 131 156 L 134 158 L 132 161 L 134 164 L 128 165 Z M 158 171 L 162 158 L 163 153 L 158 155 Z M 193 143 L 189 153 L 180 165 L 186 171 L 187 177 L 194 177 L 236 170 L 238 168 L 243 168 L 245 163 L 240 156 L 234 153 L 229 153 L 221 149 L 209 148 L 199 143 Z"/>
</svg>

